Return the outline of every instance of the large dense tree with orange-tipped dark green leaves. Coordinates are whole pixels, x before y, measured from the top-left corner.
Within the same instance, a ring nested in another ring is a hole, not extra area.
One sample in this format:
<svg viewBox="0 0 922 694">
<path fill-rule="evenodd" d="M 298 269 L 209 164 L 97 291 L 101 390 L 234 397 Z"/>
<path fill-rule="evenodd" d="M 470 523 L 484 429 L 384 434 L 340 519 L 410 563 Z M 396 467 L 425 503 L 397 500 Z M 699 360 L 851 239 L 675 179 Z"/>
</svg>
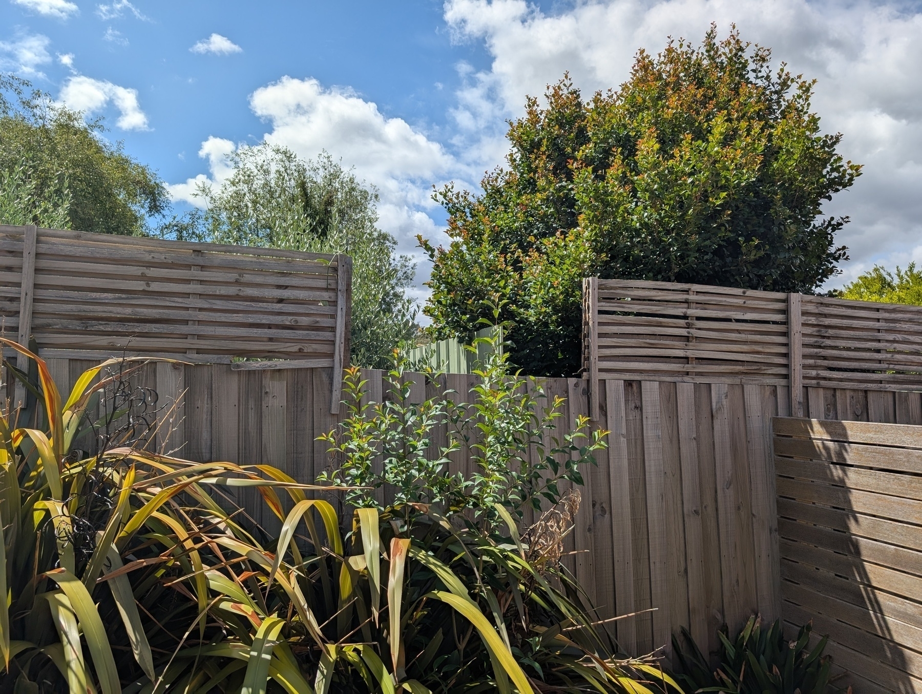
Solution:
<svg viewBox="0 0 922 694">
<path fill-rule="evenodd" d="M 448 248 L 433 248 L 435 336 L 464 335 L 490 304 L 514 323 L 526 371 L 580 368 L 585 276 L 809 292 L 846 258 L 847 218 L 822 203 L 860 166 L 810 111 L 814 81 L 771 66 L 734 29 L 701 46 L 640 51 L 617 91 L 585 101 L 568 77 L 510 124 L 508 166 L 471 194 L 436 194 Z"/>
</svg>

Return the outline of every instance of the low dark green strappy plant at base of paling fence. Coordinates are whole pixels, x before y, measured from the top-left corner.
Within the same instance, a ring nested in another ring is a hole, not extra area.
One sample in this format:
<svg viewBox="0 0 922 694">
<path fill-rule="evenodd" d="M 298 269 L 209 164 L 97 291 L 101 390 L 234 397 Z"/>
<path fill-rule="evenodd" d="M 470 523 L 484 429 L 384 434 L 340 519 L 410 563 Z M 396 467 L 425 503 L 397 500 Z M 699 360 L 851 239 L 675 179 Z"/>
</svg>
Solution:
<svg viewBox="0 0 922 694">
<path fill-rule="evenodd" d="M 810 650 L 810 629 L 810 624 L 801 627 L 797 640 L 788 641 L 780 619 L 762 629 L 762 618 L 753 616 L 736 641 L 731 642 L 725 626 L 718 632 L 720 665 L 712 669 L 683 627 L 681 634 L 687 651 L 672 637 L 672 649 L 682 670 L 675 678 L 688 694 L 696 691 L 825 694 L 833 690 L 829 683 L 832 661 L 830 656 L 822 655 L 825 637 Z"/>
</svg>

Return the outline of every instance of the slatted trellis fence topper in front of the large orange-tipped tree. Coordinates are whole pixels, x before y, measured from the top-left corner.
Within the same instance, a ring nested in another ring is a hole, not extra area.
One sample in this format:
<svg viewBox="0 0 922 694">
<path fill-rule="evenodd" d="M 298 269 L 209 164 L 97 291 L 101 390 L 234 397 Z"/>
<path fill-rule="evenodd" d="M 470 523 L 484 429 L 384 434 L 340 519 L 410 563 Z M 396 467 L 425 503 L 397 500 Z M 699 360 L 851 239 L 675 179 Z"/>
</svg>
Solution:
<svg viewBox="0 0 922 694">
<path fill-rule="evenodd" d="M 922 306 L 591 277 L 584 307 L 590 382 L 790 385 L 796 415 L 803 387 L 922 388 Z"/>
</svg>

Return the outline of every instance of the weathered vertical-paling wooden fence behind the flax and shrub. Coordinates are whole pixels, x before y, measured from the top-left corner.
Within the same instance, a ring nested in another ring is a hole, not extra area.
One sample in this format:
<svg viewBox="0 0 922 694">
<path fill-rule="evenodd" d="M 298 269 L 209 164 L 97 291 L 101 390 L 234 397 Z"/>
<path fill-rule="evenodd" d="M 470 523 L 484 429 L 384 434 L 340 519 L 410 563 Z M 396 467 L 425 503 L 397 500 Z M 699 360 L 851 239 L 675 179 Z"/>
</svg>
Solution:
<svg viewBox="0 0 922 694">
<path fill-rule="evenodd" d="M 57 382 L 73 384 L 95 362 L 50 359 Z M 196 461 L 278 465 L 313 482 L 331 464 L 316 437 L 336 426 L 329 412 L 330 369 L 236 371 L 227 364 L 149 364 L 131 379 L 178 400 L 154 445 Z M 386 397 L 382 371 L 364 371 L 372 401 Z M 411 400 L 464 399 L 476 376 L 448 374 L 441 386 L 408 375 Z M 549 397 L 567 398 L 557 435 L 588 408 L 583 379 L 540 380 Z M 716 649 L 715 629 L 739 625 L 751 611 L 778 614 L 774 550 L 774 478 L 770 418 L 787 414 L 784 387 L 609 381 L 597 426 L 610 429 L 608 451 L 585 474 L 583 502 L 566 564 L 597 605 L 600 618 L 656 607 L 611 625 L 631 653 L 667 645 L 684 625 Z M 440 395 L 441 396 L 441 395 Z M 780 409 L 779 409 L 780 408 Z M 436 432 L 434 443 L 443 441 Z M 532 454 L 535 454 L 532 452 Z M 471 474 L 455 456 L 453 472 Z M 244 492 L 248 493 L 248 492 Z M 271 534 L 278 522 L 255 497 L 241 498 Z M 775 567 L 774 573 L 772 567 Z M 773 592 L 774 591 L 774 592 Z"/>
</svg>

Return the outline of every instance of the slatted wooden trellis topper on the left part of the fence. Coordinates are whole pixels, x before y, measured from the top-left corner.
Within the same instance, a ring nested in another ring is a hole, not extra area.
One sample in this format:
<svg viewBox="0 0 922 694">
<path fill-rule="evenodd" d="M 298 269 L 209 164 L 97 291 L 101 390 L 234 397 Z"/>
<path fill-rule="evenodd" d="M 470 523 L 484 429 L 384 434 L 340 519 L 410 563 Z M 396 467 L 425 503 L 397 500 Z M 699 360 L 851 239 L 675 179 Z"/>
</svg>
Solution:
<svg viewBox="0 0 922 694">
<path fill-rule="evenodd" d="M 243 357 L 275 361 L 235 368 L 338 371 L 350 278 L 347 256 L 0 226 L 3 333 L 34 337 L 46 358 Z"/>
</svg>

